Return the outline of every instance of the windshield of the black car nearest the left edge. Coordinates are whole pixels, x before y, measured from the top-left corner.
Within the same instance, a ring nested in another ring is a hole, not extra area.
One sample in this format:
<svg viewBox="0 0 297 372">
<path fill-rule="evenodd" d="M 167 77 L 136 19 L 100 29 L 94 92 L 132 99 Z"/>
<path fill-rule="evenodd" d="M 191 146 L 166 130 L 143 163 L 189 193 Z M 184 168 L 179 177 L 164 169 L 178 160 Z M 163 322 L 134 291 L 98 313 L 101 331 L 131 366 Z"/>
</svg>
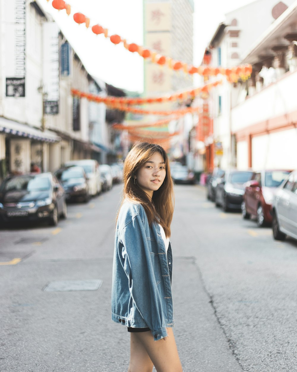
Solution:
<svg viewBox="0 0 297 372">
<path fill-rule="evenodd" d="M 3 189 L 8 190 L 26 190 L 26 191 L 41 191 L 49 190 L 50 181 L 48 177 L 27 176 L 14 177 L 7 182 L 4 182 Z"/>
</svg>

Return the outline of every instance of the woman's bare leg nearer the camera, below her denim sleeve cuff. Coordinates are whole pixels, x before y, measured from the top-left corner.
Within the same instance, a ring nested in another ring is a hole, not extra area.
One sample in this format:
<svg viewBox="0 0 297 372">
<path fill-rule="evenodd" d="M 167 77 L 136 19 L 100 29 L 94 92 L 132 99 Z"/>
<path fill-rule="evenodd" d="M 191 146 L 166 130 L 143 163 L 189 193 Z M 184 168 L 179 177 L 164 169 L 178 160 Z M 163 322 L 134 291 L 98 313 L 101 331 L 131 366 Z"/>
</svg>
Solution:
<svg viewBox="0 0 297 372">
<path fill-rule="evenodd" d="M 154 341 L 150 331 L 133 333 L 133 336 L 131 334 L 131 344 L 133 338 L 133 342 L 138 345 L 137 347 L 140 347 L 140 345 L 142 346 L 139 350 L 146 351 L 147 356 L 150 358 L 151 362 L 153 362 L 157 372 L 182 372 L 183 369 L 179 360 L 172 328 L 167 328 L 167 334 L 168 337 L 166 337 L 165 340 Z M 145 353 L 143 352 L 143 356 L 144 355 Z M 142 370 L 139 368 L 138 372 L 140 371 L 146 372 L 148 369 Z M 134 372 L 134 370 L 131 370 L 131 372 Z"/>
</svg>

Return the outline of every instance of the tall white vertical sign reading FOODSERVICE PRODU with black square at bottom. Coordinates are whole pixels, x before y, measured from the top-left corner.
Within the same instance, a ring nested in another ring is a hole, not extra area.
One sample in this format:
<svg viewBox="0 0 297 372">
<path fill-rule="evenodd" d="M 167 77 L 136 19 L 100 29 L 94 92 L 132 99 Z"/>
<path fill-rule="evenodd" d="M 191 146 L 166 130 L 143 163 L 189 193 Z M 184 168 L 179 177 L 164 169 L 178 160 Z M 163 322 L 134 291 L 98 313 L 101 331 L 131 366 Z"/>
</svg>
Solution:
<svg viewBox="0 0 297 372">
<path fill-rule="evenodd" d="M 26 0 L 4 3 L 6 96 L 25 97 Z"/>
</svg>

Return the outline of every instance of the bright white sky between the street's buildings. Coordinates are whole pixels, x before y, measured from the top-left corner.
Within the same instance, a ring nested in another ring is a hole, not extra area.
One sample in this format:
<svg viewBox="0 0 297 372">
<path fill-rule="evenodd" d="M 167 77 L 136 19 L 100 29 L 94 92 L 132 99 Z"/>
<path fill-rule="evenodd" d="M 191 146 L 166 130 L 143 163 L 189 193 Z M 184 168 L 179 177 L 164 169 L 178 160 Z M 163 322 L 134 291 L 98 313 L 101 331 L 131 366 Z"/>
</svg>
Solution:
<svg viewBox="0 0 297 372">
<path fill-rule="evenodd" d="M 200 65 L 205 47 L 225 14 L 254 0 L 194 0 L 194 65 Z M 63 34 L 74 47 L 91 75 L 108 84 L 130 91 L 143 92 L 143 58 L 127 51 L 123 44 L 114 45 L 103 35 L 96 36 L 91 27 L 78 25 L 73 13 L 80 12 L 91 19 L 90 25 L 99 24 L 117 33 L 127 42 L 143 45 L 143 1 L 141 0 L 68 0 L 72 15 L 58 12 L 52 0 L 40 0 L 44 9 L 58 23 Z M 169 56 L 170 57 L 170 56 Z"/>
</svg>

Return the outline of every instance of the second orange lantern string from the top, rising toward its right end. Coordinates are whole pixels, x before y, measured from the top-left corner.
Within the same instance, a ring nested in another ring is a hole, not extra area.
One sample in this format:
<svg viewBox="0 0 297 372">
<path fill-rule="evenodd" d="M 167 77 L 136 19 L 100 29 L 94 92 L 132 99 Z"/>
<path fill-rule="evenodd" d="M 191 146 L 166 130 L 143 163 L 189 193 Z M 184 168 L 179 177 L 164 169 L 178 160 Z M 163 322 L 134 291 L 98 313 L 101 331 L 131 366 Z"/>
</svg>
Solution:
<svg viewBox="0 0 297 372">
<path fill-rule="evenodd" d="M 95 96 L 89 93 L 86 93 L 89 95 L 87 98 L 89 100 L 95 100 L 96 102 L 103 102 L 103 103 L 119 103 L 124 105 L 144 105 L 148 103 L 162 103 L 162 102 L 173 102 L 176 100 L 186 100 L 187 98 L 193 98 L 198 96 L 198 94 L 203 93 L 209 93 L 209 91 L 218 86 L 222 83 L 222 80 L 213 81 L 212 83 L 205 84 L 203 87 L 199 88 L 193 88 L 184 90 L 182 92 L 176 92 L 174 94 L 166 94 L 163 96 L 157 96 L 157 97 L 148 97 L 148 98 L 135 98 L 135 97 L 114 97 L 114 96 L 107 96 L 107 97 L 101 97 L 101 96 Z M 78 89 L 72 89 L 71 92 L 73 94 L 76 94 L 79 92 Z"/>
</svg>

